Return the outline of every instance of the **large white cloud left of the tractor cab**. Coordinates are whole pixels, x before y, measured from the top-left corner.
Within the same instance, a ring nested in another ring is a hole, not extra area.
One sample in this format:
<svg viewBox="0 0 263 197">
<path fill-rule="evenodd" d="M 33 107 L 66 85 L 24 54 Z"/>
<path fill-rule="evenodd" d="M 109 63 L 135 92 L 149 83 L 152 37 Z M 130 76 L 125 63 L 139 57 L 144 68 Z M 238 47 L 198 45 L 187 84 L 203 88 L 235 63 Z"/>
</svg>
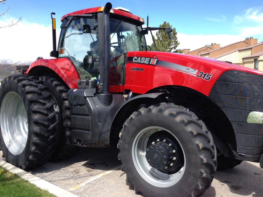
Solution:
<svg viewBox="0 0 263 197">
<path fill-rule="evenodd" d="M 7 26 L 13 17 L 0 17 L 0 27 Z M 51 23 L 51 20 L 50 20 Z M 57 30 L 57 42 L 60 30 Z M 50 58 L 52 28 L 23 19 L 12 27 L 0 28 L 0 59 L 35 61 L 37 57 Z"/>
</svg>

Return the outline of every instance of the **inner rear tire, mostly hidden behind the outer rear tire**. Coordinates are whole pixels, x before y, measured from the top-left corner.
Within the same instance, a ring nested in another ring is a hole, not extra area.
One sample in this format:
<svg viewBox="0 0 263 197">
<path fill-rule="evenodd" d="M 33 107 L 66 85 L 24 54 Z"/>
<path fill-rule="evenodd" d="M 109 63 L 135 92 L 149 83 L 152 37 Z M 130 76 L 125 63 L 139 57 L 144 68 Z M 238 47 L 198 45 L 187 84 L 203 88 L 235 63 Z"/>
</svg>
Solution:
<svg viewBox="0 0 263 197">
<path fill-rule="evenodd" d="M 53 95 L 60 112 L 61 128 L 59 134 L 59 140 L 55 147 L 55 151 L 52 155 L 52 161 L 59 161 L 68 159 L 75 155 L 78 151 L 78 147 L 68 142 L 65 133 L 66 126 L 70 125 L 70 105 L 67 99 L 67 93 L 69 87 L 56 76 L 42 76 L 41 80 L 44 81 L 44 85 L 48 86 L 48 91 Z"/>
</svg>

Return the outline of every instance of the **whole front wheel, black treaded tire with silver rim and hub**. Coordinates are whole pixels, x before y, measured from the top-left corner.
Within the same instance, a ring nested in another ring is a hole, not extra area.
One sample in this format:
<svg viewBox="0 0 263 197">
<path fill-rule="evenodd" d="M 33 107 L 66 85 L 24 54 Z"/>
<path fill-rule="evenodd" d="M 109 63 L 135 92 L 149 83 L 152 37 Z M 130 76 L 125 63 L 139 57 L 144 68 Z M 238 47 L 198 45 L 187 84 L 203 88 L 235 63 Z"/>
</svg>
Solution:
<svg viewBox="0 0 263 197">
<path fill-rule="evenodd" d="M 182 106 L 142 107 L 124 123 L 118 158 L 145 197 L 201 196 L 216 171 L 216 147 L 203 121 Z"/>
</svg>

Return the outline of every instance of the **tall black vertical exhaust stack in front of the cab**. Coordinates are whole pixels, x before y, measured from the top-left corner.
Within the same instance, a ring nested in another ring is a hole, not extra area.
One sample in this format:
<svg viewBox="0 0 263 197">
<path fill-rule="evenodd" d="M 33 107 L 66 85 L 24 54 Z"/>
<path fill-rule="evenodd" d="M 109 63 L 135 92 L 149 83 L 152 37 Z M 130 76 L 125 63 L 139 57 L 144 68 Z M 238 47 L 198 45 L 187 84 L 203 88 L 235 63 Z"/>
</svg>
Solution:
<svg viewBox="0 0 263 197">
<path fill-rule="evenodd" d="M 109 64 L 110 64 L 110 10 L 111 3 L 106 3 L 103 12 L 98 13 L 99 39 L 99 69 L 102 94 L 109 93 Z M 100 86 L 101 87 L 101 86 Z"/>
</svg>

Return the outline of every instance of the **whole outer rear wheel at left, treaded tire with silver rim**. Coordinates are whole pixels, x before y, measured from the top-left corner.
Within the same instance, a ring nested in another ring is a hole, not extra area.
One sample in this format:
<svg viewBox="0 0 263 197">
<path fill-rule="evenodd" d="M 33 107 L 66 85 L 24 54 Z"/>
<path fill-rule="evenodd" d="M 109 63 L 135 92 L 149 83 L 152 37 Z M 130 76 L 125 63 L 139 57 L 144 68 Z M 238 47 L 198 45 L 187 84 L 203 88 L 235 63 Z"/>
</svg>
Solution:
<svg viewBox="0 0 263 197">
<path fill-rule="evenodd" d="M 54 98 L 37 77 L 12 75 L 0 86 L 0 144 L 6 161 L 22 169 L 46 163 L 59 138 Z"/>
</svg>

